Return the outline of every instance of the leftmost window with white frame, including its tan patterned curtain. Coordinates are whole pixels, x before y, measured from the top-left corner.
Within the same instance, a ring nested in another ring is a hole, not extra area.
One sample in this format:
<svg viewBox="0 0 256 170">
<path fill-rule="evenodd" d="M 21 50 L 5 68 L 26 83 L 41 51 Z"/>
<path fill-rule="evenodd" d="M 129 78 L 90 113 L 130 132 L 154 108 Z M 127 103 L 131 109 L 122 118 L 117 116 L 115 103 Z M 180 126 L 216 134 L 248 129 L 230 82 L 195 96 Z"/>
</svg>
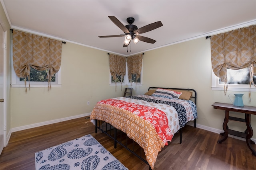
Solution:
<svg viewBox="0 0 256 170">
<path fill-rule="evenodd" d="M 33 35 L 18 30 L 12 30 L 11 37 L 10 54 L 14 54 L 11 56 L 11 87 L 25 87 L 25 80 L 27 82 L 28 78 L 25 79 L 19 77 L 22 77 L 25 74 L 26 69 L 24 68 L 27 68 L 28 64 L 33 65 L 33 67 L 37 70 L 30 67 L 30 80 L 29 83 L 26 83 L 26 88 L 29 86 L 29 84 L 30 87 L 49 88 L 49 82 L 46 79 L 48 70 L 44 70 L 46 67 L 50 67 L 52 74 L 55 74 L 53 78 L 51 75 L 48 75 L 51 77 L 50 86 L 60 87 L 60 61 L 62 41 L 49 39 L 47 37 Z M 29 45 L 30 43 L 35 43 L 36 45 Z M 38 46 L 40 49 L 36 48 Z M 13 49 L 14 51 L 12 51 Z M 33 51 L 33 53 L 30 53 L 30 57 L 25 55 L 27 51 Z M 51 57 L 48 57 L 48 55 Z"/>
</svg>

